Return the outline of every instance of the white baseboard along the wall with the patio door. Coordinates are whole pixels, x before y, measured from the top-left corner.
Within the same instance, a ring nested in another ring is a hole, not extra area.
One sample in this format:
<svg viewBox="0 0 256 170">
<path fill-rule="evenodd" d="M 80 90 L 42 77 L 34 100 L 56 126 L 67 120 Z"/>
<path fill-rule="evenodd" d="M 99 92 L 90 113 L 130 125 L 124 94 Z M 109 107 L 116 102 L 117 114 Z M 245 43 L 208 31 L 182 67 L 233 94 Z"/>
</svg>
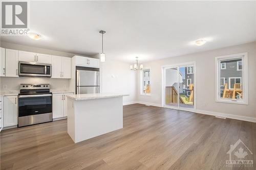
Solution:
<svg viewBox="0 0 256 170">
<path fill-rule="evenodd" d="M 144 104 L 144 105 L 151 105 L 151 106 L 156 106 L 156 107 L 162 107 L 161 104 L 156 104 L 156 103 L 147 103 L 147 102 L 141 102 L 137 101 L 138 104 Z M 177 108 L 172 108 L 172 109 L 177 109 Z M 177 109 L 177 110 L 185 110 L 185 111 L 190 111 L 190 112 L 195 112 L 195 113 L 200 113 L 200 114 L 207 114 L 211 116 L 219 116 L 219 117 L 226 117 L 226 118 L 231 118 L 231 119 L 237 119 L 237 120 L 243 120 L 247 122 L 253 122 L 256 123 L 256 117 L 248 117 L 248 116 L 240 116 L 240 115 L 234 115 L 234 114 L 226 114 L 226 113 L 220 113 L 220 112 L 212 112 L 212 111 L 206 111 L 206 110 L 198 110 L 198 109 Z"/>
</svg>

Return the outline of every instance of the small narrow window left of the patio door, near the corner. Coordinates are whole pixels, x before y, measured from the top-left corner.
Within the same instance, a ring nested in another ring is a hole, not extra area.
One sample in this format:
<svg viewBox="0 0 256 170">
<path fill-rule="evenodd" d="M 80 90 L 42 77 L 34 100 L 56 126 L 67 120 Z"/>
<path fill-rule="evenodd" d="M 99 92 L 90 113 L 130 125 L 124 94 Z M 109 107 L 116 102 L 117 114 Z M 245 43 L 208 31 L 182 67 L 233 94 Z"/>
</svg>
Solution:
<svg viewBox="0 0 256 170">
<path fill-rule="evenodd" d="M 151 93 L 151 70 L 144 68 L 142 70 L 142 94 L 150 94 Z"/>
</svg>

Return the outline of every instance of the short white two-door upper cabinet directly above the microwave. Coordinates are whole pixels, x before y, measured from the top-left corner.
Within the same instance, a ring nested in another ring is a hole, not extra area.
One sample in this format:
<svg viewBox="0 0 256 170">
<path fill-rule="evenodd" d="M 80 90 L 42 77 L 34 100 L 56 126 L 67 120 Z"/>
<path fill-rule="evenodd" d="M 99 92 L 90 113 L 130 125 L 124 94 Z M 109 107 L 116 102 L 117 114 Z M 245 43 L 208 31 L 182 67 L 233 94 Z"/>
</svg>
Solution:
<svg viewBox="0 0 256 170">
<path fill-rule="evenodd" d="M 18 52 L 18 61 L 37 62 L 37 63 L 52 63 L 52 56 L 48 54 L 39 54 L 32 52 Z"/>
</svg>

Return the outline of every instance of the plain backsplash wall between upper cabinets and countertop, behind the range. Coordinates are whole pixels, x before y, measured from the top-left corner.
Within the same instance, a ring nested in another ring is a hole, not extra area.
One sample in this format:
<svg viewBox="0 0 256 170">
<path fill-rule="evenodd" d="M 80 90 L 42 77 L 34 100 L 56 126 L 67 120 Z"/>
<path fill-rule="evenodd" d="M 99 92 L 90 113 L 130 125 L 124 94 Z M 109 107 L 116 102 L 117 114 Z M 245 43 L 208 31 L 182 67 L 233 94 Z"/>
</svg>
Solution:
<svg viewBox="0 0 256 170">
<path fill-rule="evenodd" d="M 1 77 L 0 78 L 0 90 L 19 90 L 20 84 L 40 84 L 40 83 L 48 83 L 50 84 L 51 89 L 60 89 L 60 90 L 68 90 L 69 89 L 69 79 L 52 79 L 52 78 L 34 78 L 34 77 Z"/>
</svg>

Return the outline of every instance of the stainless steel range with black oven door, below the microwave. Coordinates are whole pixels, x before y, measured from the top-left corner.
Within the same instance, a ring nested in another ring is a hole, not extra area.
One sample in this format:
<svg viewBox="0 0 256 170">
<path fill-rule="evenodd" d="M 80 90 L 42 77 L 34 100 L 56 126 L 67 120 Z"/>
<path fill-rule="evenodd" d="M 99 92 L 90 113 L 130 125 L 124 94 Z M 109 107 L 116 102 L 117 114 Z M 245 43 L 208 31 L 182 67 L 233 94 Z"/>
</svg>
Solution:
<svg viewBox="0 0 256 170">
<path fill-rule="evenodd" d="M 52 121 L 52 93 L 49 84 L 20 84 L 18 127 Z"/>
</svg>

